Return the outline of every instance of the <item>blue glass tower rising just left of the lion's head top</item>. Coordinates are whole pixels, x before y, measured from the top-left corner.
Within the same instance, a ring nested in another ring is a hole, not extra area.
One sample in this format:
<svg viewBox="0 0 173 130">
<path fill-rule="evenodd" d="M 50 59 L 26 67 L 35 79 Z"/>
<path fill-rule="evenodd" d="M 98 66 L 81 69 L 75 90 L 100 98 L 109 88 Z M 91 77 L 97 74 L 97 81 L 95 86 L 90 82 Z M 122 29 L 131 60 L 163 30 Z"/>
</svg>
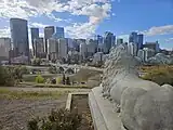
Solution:
<svg viewBox="0 0 173 130">
<path fill-rule="evenodd" d="M 106 31 L 105 36 L 104 36 L 104 48 L 106 48 L 106 52 L 105 53 L 109 53 L 111 47 L 115 46 L 115 36 L 114 34 Z"/>
</svg>

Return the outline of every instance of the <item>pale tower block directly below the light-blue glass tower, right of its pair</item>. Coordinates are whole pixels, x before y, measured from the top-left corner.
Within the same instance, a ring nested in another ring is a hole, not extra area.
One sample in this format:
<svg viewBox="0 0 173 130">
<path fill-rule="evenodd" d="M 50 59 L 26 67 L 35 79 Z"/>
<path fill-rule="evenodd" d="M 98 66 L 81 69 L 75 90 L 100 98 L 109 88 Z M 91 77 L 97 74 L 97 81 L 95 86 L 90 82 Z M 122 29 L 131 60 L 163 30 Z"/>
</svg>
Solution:
<svg viewBox="0 0 173 130">
<path fill-rule="evenodd" d="M 68 54 L 68 44 L 67 40 L 64 38 L 58 39 L 58 57 L 59 58 L 67 58 Z"/>
</svg>

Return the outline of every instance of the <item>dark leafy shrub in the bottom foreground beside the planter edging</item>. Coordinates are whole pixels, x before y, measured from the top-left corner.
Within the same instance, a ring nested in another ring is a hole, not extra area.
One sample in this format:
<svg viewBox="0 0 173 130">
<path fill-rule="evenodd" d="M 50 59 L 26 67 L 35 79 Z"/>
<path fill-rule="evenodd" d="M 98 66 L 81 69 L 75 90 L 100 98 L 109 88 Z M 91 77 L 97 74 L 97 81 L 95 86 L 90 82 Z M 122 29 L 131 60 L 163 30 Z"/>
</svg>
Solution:
<svg viewBox="0 0 173 130">
<path fill-rule="evenodd" d="M 81 122 L 81 115 L 65 109 L 52 110 L 49 117 L 31 119 L 28 130 L 77 130 Z"/>
</svg>

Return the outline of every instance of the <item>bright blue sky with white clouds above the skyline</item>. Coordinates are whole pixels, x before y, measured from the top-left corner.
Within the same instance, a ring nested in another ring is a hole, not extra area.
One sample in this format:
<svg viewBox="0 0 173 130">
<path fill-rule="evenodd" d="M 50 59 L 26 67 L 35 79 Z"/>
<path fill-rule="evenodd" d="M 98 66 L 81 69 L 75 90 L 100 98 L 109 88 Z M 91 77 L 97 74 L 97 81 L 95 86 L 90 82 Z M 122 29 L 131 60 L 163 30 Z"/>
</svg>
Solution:
<svg viewBox="0 0 173 130">
<path fill-rule="evenodd" d="M 9 20 L 28 20 L 29 27 L 65 27 L 66 37 L 90 38 L 106 30 L 128 39 L 131 31 L 145 41 L 173 48 L 173 0 L 0 0 L 0 37 L 10 37 Z M 29 34 L 30 37 L 30 34 Z"/>
</svg>

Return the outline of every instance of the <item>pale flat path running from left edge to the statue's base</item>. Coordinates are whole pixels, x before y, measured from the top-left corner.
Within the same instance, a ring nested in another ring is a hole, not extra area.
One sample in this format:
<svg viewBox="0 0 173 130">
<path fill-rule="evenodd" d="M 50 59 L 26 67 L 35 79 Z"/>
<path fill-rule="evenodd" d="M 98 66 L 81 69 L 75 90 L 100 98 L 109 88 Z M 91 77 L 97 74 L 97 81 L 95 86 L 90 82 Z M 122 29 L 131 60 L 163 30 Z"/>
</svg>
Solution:
<svg viewBox="0 0 173 130">
<path fill-rule="evenodd" d="M 11 91 L 80 91 L 89 92 L 90 89 L 68 89 L 68 88 L 17 88 L 17 87 L 0 87 L 0 89 L 11 90 Z"/>
</svg>

